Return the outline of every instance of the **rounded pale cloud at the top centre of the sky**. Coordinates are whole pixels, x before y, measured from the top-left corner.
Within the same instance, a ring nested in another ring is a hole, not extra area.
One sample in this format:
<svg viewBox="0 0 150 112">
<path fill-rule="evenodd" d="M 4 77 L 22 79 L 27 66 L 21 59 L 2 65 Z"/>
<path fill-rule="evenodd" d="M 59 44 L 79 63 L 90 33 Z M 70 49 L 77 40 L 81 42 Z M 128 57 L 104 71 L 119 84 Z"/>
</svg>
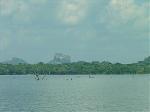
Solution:
<svg viewBox="0 0 150 112">
<path fill-rule="evenodd" d="M 68 25 L 78 24 L 87 14 L 87 6 L 87 0 L 63 0 L 58 17 Z"/>
</svg>

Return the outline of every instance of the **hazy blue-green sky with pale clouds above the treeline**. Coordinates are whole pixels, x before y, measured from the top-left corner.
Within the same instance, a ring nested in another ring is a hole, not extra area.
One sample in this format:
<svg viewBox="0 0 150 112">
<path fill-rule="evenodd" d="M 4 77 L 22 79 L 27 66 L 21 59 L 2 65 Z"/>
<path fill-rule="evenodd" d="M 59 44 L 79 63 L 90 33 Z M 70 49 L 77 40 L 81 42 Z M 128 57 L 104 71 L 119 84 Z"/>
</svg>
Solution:
<svg viewBox="0 0 150 112">
<path fill-rule="evenodd" d="M 150 55 L 149 0 L 0 0 L 0 61 L 133 63 Z"/>
</svg>

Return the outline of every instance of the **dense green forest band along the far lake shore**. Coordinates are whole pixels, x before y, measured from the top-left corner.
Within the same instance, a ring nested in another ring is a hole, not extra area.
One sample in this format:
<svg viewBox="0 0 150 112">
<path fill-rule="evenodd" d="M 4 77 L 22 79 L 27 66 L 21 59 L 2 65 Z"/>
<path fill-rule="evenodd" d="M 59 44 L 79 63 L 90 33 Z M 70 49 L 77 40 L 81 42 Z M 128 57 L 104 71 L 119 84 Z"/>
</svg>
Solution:
<svg viewBox="0 0 150 112">
<path fill-rule="evenodd" d="M 150 56 L 132 64 L 73 62 L 68 64 L 0 64 L 0 75 L 24 74 L 150 74 Z"/>
</svg>

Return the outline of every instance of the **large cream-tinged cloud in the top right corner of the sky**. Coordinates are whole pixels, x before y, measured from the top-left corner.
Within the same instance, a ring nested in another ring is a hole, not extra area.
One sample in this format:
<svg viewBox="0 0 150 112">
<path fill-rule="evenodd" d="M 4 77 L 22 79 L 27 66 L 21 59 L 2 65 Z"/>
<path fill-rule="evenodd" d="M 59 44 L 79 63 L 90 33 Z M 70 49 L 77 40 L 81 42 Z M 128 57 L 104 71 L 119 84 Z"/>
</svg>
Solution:
<svg viewBox="0 0 150 112">
<path fill-rule="evenodd" d="M 118 27 L 131 23 L 135 28 L 137 26 L 138 28 L 147 28 L 147 24 L 150 22 L 149 4 L 149 2 L 138 4 L 135 0 L 110 0 L 105 13 L 100 16 L 100 21 L 107 23 L 108 27 Z"/>
</svg>

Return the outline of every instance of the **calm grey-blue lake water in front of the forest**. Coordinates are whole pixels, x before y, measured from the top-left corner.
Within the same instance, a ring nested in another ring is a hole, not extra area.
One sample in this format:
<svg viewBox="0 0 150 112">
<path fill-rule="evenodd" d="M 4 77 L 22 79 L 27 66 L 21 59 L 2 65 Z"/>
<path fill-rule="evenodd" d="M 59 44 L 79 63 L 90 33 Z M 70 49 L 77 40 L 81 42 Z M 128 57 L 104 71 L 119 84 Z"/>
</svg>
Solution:
<svg viewBox="0 0 150 112">
<path fill-rule="evenodd" d="M 150 112 L 149 75 L 94 77 L 0 76 L 0 112 Z"/>
</svg>

